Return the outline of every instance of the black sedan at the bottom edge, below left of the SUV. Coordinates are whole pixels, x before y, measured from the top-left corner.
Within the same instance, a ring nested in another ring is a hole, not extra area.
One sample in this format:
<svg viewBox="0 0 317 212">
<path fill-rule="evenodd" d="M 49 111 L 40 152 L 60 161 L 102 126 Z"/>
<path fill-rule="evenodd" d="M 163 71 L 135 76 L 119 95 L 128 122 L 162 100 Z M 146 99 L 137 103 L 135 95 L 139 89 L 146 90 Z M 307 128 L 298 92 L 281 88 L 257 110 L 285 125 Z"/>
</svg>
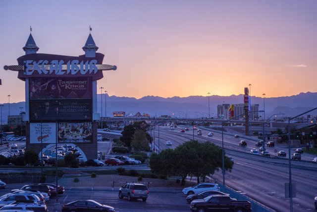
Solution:
<svg viewBox="0 0 317 212">
<path fill-rule="evenodd" d="M 100 204 L 94 200 L 77 200 L 62 205 L 62 212 L 74 211 L 100 211 L 100 212 L 115 212 L 113 207 Z"/>
</svg>

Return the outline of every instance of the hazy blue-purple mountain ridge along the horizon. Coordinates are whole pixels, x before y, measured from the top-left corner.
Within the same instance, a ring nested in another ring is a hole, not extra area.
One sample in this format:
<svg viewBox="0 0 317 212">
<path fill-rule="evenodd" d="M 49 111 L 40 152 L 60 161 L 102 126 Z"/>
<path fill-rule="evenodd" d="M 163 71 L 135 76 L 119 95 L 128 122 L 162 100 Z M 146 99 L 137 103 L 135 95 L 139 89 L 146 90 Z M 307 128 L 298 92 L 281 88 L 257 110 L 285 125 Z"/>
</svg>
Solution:
<svg viewBox="0 0 317 212">
<path fill-rule="evenodd" d="M 106 94 L 107 95 L 107 94 Z M 307 92 L 293 96 L 263 97 L 251 96 L 251 104 L 259 104 L 259 109 L 264 109 L 265 117 L 275 113 L 285 113 L 287 117 L 293 117 L 317 107 L 317 93 Z M 243 94 L 231 96 L 210 96 L 210 116 L 215 117 L 219 104 L 243 103 Z M 101 94 L 97 94 L 98 112 L 101 113 Z M 8 103 L 2 107 L 2 122 L 6 122 L 8 115 Z M 18 115 L 20 107 L 25 108 L 25 102 L 10 103 L 10 115 Z M 140 99 L 134 97 L 106 96 L 103 94 L 103 116 L 112 117 L 113 111 L 125 111 L 126 114 L 134 115 L 137 112 L 147 113 L 153 116 L 170 115 L 178 118 L 208 117 L 208 96 L 188 97 L 159 97 L 144 96 Z M 23 109 L 25 110 L 25 109 Z M 22 111 L 23 111 L 22 110 Z M 309 113 L 317 115 L 317 110 Z"/>
</svg>

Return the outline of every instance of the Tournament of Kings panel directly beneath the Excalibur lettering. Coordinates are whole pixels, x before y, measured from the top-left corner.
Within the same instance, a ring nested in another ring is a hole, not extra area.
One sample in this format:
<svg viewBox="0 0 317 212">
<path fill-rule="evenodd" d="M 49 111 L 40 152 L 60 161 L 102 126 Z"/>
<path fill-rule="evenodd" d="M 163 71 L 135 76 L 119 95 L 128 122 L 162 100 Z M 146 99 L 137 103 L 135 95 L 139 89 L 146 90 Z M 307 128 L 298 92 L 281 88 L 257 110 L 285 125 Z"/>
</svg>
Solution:
<svg viewBox="0 0 317 212">
<path fill-rule="evenodd" d="M 91 77 L 30 77 L 29 96 L 30 100 L 92 98 Z"/>
</svg>

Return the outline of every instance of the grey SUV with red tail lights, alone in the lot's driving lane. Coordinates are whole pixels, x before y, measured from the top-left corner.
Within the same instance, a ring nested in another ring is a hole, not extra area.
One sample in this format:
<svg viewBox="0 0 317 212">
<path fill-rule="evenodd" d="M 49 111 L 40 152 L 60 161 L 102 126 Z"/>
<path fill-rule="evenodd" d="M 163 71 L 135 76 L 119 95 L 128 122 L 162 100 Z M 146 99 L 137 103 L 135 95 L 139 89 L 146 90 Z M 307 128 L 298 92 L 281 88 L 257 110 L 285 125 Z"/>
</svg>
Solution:
<svg viewBox="0 0 317 212">
<path fill-rule="evenodd" d="M 123 199 L 128 198 L 128 201 L 133 199 L 142 199 L 146 202 L 149 197 L 149 190 L 146 185 L 140 183 L 127 183 L 119 189 L 118 197 Z"/>
</svg>

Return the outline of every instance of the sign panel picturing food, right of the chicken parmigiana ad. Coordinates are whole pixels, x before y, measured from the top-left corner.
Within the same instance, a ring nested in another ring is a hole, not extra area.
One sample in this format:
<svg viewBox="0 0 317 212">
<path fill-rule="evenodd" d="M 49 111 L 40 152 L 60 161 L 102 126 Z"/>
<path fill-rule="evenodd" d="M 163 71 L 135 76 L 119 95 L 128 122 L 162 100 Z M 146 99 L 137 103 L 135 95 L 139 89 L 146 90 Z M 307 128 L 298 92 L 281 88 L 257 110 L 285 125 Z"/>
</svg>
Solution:
<svg viewBox="0 0 317 212">
<path fill-rule="evenodd" d="M 59 143 L 90 143 L 92 136 L 93 123 L 58 123 L 57 138 Z"/>
</svg>

